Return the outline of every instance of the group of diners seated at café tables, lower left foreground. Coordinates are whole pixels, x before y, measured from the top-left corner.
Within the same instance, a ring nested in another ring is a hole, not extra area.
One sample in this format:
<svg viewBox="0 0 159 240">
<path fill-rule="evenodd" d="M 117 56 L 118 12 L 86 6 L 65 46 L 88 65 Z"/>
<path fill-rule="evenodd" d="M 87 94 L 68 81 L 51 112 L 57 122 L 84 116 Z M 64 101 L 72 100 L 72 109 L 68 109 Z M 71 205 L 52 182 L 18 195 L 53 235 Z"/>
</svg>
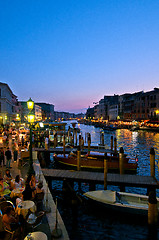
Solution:
<svg viewBox="0 0 159 240">
<path fill-rule="evenodd" d="M 15 189 L 21 189 L 21 194 L 17 196 L 12 194 Z M 31 200 L 35 203 L 37 211 L 40 211 L 43 209 L 43 199 L 43 183 L 41 181 L 38 182 L 34 174 L 27 176 L 24 180 L 20 175 L 16 175 L 16 177 L 13 178 L 10 170 L 6 169 L 4 177 L 0 176 L 0 204 L 9 200 L 14 206 L 6 206 L 2 216 L 2 222 L 8 230 L 16 231 L 15 237 L 17 236 L 17 239 L 20 239 L 19 234 L 25 230 L 27 218 L 18 215 L 18 212 L 16 212 L 18 204 L 26 200 Z M 38 205 L 39 200 L 41 203 L 40 206 Z"/>
</svg>

